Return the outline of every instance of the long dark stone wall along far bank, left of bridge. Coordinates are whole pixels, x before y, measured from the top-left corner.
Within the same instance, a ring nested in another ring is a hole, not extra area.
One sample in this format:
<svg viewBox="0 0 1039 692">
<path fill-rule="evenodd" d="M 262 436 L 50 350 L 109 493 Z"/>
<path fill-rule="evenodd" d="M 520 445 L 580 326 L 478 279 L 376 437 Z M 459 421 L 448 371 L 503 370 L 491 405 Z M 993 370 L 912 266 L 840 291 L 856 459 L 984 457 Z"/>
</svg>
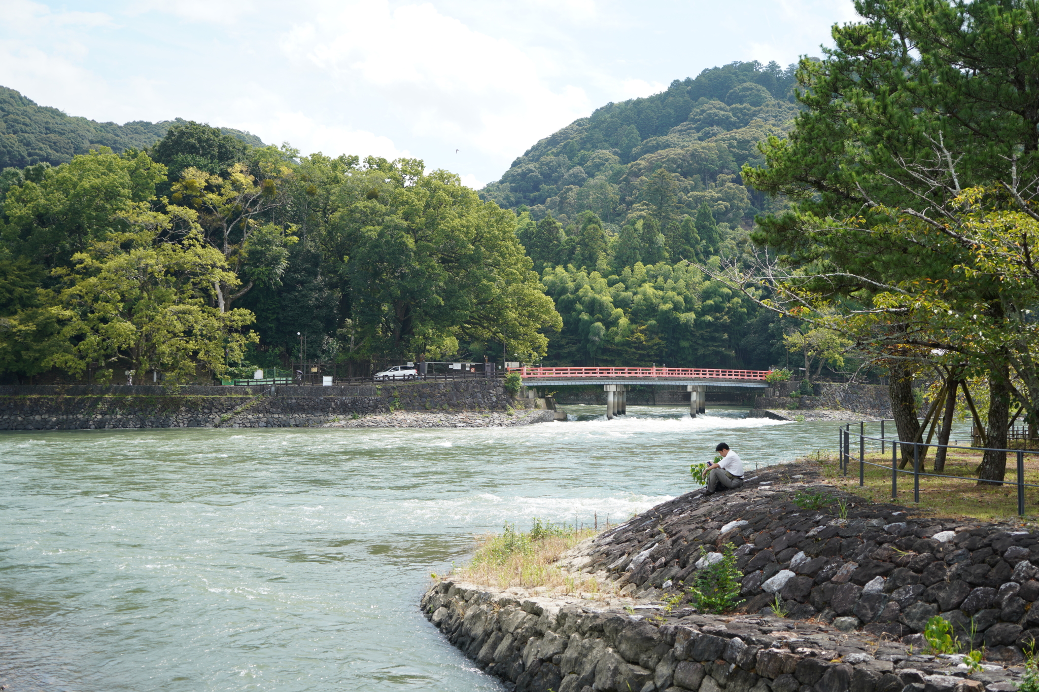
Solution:
<svg viewBox="0 0 1039 692">
<path fill-rule="evenodd" d="M 123 427 L 291 427 L 394 409 L 504 411 L 501 380 L 359 387 L 3 386 L 0 431 Z"/>
</svg>

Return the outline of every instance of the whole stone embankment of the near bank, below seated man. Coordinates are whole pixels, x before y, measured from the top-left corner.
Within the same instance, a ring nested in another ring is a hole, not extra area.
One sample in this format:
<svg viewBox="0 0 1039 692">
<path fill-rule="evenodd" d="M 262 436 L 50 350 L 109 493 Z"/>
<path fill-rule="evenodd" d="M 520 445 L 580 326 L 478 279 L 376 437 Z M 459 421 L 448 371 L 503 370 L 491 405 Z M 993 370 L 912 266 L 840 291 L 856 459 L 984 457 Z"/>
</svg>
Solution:
<svg viewBox="0 0 1039 692">
<path fill-rule="evenodd" d="M 667 605 L 726 544 L 743 574 L 738 612 Z M 1036 564 L 1034 532 L 914 517 L 843 496 L 811 469 L 773 468 L 736 492 L 660 504 L 558 563 L 636 599 L 627 609 L 615 597 L 451 582 L 422 605 L 520 691 L 1009 692 L 1039 638 Z M 777 601 L 789 617 L 771 614 Z M 930 654 L 920 633 L 934 615 L 963 651 L 985 647 L 982 671 Z"/>
</svg>

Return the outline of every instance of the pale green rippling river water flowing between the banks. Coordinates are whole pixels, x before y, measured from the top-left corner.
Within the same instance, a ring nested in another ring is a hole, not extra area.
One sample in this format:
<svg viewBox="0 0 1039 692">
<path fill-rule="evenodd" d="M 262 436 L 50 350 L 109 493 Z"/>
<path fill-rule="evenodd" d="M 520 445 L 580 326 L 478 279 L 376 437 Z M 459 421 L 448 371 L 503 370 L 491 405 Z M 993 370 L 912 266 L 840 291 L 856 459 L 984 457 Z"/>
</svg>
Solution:
<svg viewBox="0 0 1039 692">
<path fill-rule="evenodd" d="M 499 690 L 417 608 L 504 522 L 628 519 L 727 442 L 755 465 L 837 423 L 566 407 L 477 430 L 0 434 L 7 690 Z"/>
</svg>

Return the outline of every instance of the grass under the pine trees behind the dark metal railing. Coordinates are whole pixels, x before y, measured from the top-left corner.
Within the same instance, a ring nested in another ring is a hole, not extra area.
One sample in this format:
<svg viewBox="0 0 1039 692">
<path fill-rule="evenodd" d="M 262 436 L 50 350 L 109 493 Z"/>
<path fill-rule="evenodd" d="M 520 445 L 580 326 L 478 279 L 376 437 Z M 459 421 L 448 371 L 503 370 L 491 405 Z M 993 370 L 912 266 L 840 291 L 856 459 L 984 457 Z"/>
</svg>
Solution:
<svg viewBox="0 0 1039 692">
<path fill-rule="evenodd" d="M 852 445 L 853 447 L 855 445 Z M 920 505 L 925 514 L 941 517 L 963 517 L 982 521 L 1028 521 L 1039 522 L 1039 488 L 1024 489 L 1023 518 L 1017 516 L 1017 461 L 1013 454 L 1007 459 L 1007 473 L 1003 486 L 979 486 L 978 465 L 981 452 L 950 449 L 943 474 L 957 478 L 920 478 Z M 883 468 L 865 466 L 864 485 L 858 485 L 858 454 L 854 450 L 848 466 L 848 475 L 841 471 L 836 454 L 817 453 L 811 461 L 818 461 L 826 478 L 842 490 L 876 502 L 896 502 L 913 506 L 912 462 L 906 466 L 910 473 L 898 474 L 898 497 L 891 498 L 891 454 L 867 452 L 865 461 L 880 464 Z M 933 472 L 934 450 L 921 461 L 921 471 Z M 959 479 L 959 478 L 962 478 Z M 1039 485 L 1039 455 L 1024 456 L 1024 482 Z"/>
</svg>

